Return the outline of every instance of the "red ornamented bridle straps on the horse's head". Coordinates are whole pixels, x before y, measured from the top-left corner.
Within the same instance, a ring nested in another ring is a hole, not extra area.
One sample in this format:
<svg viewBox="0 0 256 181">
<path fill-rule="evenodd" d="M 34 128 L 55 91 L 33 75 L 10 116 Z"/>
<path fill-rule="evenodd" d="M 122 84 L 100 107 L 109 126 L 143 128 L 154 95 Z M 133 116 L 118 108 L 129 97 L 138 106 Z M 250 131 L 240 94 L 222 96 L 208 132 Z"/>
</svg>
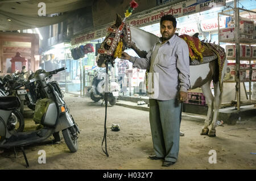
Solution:
<svg viewBox="0 0 256 181">
<path fill-rule="evenodd" d="M 113 56 L 115 52 L 115 48 L 117 48 L 117 44 L 119 43 L 120 37 L 123 33 L 123 28 L 126 27 L 126 37 L 127 37 L 127 46 L 131 47 L 131 30 L 129 24 L 122 22 L 122 24 L 118 28 L 107 28 L 108 33 L 115 33 L 115 37 L 106 38 L 102 44 L 101 48 L 98 49 L 98 53 L 105 54 L 108 56 Z M 108 34 L 109 36 L 109 34 Z M 104 48 L 105 43 L 110 46 L 109 50 Z"/>
</svg>

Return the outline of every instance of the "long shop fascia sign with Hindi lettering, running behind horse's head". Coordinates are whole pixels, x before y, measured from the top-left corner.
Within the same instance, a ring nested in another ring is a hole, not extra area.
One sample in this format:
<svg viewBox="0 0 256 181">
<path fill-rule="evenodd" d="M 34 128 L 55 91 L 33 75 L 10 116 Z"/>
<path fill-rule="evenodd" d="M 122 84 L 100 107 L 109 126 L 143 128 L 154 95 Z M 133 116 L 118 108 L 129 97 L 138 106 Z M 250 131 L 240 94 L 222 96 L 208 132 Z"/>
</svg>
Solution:
<svg viewBox="0 0 256 181">
<path fill-rule="evenodd" d="M 167 6 L 165 9 L 145 14 L 139 18 L 133 18 L 128 22 L 131 26 L 143 27 L 147 26 L 148 24 L 158 23 L 160 18 L 164 15 L 170 14 L 178 18 L 181 16 L 194 14 L 196 12 L 210 10 L 214 7 L 225 6 L 225 4 L 226 0 L 191 0 L 185 3 L 179 3 L 177 5 Z M 104 36 L 106 36 L 106 28 L 75 37 L 71 40 L 71 44 L 76 45 Z"/>
</svg>

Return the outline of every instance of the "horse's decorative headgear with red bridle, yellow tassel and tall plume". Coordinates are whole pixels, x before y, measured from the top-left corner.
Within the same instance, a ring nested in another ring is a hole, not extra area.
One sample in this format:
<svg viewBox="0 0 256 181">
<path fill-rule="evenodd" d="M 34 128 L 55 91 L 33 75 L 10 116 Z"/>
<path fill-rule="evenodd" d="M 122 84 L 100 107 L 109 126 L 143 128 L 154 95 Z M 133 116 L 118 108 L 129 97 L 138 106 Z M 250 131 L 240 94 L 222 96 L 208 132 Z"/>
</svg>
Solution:
<svg viewBox="0 0 256 181">
<path fill-rule="evenodd" d="M 125 12 L 125 19 L 122 20 L 121 25 L 118 28 L 109 27 L 107 28 L 108 36 L 107 38 L 102 42 L 100 49 L 98 49 L 98 53 L 104 54 L 108 57 L 114 57 L 114 58 L 120 58 L 122 53 L 122 37 L 123 37 L 123 28 L 126 29 L 126 35 L 127 35 L 127 46 L 131 47 L 131 31 L 129 24 L 125 23 L 125 20 L 127 17 L 131 15 L 131 12 L 138 7 L 138 3 L 134 0 L 130 2 L 130 7 Z M 110 33 L 114 33 L 114 37 L 110 37 Z M 110 48 L 105 49 L 105 44 L 107 44 Z"/>
</svg>

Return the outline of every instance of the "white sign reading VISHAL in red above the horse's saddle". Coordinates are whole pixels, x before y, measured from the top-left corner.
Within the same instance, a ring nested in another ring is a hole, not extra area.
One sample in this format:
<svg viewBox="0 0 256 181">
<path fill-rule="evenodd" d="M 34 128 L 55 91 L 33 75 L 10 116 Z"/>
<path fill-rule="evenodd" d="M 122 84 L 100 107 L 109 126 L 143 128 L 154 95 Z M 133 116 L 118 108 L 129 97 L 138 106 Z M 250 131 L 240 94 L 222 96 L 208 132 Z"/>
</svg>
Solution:
<svg viewBox="0 0 256 181">
<path fill-rule="evenodd" d="M 217 31 L 218 30 L 218 20 L 209 19 L 202 21 L 200 23 L 200 27 L 202 31 Z M 225 28 L 225 20 L 220 20 L 220 28 Z"/>
</svg>

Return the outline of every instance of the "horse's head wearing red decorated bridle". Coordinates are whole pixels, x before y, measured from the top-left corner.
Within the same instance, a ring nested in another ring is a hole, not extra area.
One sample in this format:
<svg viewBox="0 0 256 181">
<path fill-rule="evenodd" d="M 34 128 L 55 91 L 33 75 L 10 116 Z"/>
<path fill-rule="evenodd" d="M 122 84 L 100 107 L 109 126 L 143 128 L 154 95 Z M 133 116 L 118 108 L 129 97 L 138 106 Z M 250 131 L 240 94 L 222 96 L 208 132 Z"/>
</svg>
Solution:
<svg viewBox="0 0 256 181">
<path fill-rule="evenodd" d="M 117 14 L 117 19 L 115 24 L 107 28 L 108 35 L 101 43 L 100 49 L 98 49 L 98 56 L 96 62 L 98 67 L 104 68 L 106 63 L 111 62 L 112 66 L 114 65 L 115 51 L 120 41 L 123 42 L 122 48 L 120 50 L 125 50 L 127 45 L 130 47 L 131 44 L 131 33 L 130 27 L 122 22 L 122 18 Z"/>
</svg>

